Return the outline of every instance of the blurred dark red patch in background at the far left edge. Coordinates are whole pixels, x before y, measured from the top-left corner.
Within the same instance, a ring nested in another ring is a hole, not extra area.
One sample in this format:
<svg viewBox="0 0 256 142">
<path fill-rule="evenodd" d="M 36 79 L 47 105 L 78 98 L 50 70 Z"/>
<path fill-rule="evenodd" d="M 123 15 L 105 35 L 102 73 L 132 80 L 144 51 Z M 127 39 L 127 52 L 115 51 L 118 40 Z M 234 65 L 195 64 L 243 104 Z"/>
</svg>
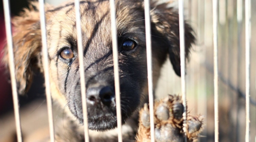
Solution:
<svg viewBox="0 0 256 142">
<path fill-rule="evenodd" d="M 6 45 L 6 33 L 4 15 L 0 13 L 0 60 L 3 57 L 3 49 Z M 0 113 L 12 105 L 11 84 L 8 82 L 8 74 L 5 65 L 0 61 Z"/>
</svg>

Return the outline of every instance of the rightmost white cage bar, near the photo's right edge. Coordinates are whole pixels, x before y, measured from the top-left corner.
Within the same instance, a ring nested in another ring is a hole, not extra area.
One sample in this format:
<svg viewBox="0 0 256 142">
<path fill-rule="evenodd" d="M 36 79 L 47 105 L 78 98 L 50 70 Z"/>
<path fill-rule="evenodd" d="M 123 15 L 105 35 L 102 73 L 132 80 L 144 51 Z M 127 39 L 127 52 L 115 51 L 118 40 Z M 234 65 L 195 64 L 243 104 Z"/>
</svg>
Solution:
<svg viewBox="0 0 256 142">
<path fill-rule="evenodd" d="M 249 142 L 251 0 L 245 0 L 245 142 Z"/>
</svg>

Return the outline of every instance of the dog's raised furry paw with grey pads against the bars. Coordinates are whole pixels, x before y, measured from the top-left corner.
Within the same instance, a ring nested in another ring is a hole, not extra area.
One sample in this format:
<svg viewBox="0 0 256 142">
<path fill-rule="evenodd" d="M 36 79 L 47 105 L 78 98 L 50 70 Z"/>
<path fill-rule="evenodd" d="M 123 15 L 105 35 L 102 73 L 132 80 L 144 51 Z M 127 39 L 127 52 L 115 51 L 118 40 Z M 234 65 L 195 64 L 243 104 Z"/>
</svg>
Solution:
<svg viewBox="0 0 256 142">
<path fill-rule="evenodd" d="M 154 129 L 156 142 L 188 142 L 197 139 L 202 130 L 203 117 L 187 114 L 186 136 L 184 135 L 182 113 L 184 106 L 180 96 L 168 95 L 154 103 Z M 148 104 L 140 110 L 139 131 L 137 142 L 150 142 L 150 112 Z"/>
</svg>

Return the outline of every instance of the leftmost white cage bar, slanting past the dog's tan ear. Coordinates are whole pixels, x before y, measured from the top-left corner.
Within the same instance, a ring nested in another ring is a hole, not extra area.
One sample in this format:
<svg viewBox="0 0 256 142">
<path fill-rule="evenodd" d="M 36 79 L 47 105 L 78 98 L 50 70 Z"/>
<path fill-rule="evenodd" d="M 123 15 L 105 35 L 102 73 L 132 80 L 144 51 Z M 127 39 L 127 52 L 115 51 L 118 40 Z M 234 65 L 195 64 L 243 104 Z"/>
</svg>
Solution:
<svg viewBox="0 0 256 142">
<path fill-rule="evenodd" d="M 10 75 L 11 75 L 11 87 L 13 92 L 13 107 L 14 107 L 17 140 L 18 142 L 23 142 L 22 129 L 20 125 L 19 99 L 18 99 L 18 93 L 17 93 L 16 79 L 15 79 L 15 65 L 14 65 L 13 38 L 12 38 L 13 36 L 12 36 L 12 30 L 11 30 L 11 14 L 10 14 L 9 0 L 3 0 L 3 4 L 4 4 L 4 21 L 5 21 L 7 46 L 8 46 L 8 54 L 9 54 L 9 68 L 10 68 Z"/>
</svg>

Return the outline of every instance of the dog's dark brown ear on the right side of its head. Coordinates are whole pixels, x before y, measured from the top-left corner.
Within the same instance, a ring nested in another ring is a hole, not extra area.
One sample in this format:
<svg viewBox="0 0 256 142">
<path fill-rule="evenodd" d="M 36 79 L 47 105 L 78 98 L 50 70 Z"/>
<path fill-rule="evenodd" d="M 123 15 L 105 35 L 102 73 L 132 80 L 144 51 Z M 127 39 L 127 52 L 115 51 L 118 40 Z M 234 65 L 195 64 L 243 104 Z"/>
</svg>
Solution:
<svg viewBox="0 0 256 142">
<path fill-rule="evenodd" d="M 178 10 L 167 7 L 167 4 L 152 4 L 151 25 L 154 30 L 163 35 L 167 40 L 165 45 L 169 50 L 169 59 L 175 73 L 180 76 L 180 34 L 179 34 L 179 15 Z M 189 57 L 191 44 L 195 42 L 193 30 L 185 21 L 185 52 L 186 58 Z M 152 31 L 154 31 L 152 30 Z"/>
</svg>

